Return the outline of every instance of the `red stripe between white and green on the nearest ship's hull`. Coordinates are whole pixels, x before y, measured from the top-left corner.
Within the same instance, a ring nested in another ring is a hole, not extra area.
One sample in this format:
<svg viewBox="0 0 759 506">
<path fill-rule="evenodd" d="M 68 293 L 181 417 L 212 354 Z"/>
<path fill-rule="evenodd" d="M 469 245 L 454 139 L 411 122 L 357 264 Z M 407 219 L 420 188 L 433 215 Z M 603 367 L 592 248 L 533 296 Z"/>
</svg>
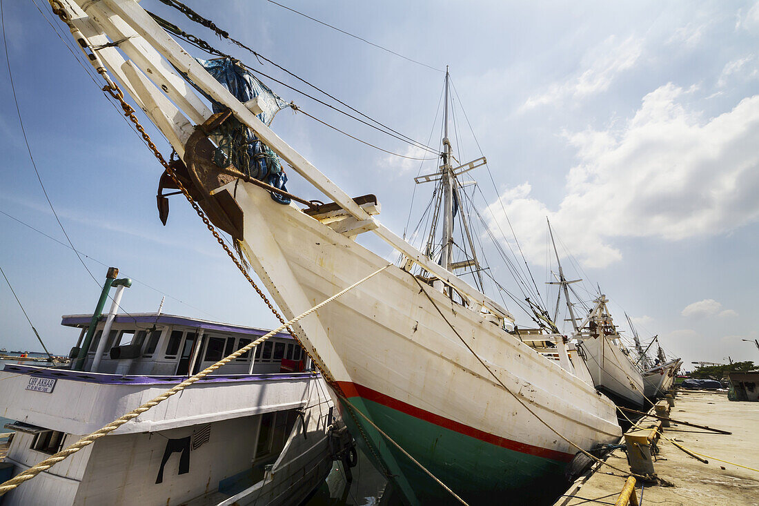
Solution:
<svg viewBox="0 0 759 506">
<path fill-rule="evenodd" d="M 523 454 L 535 455 L 536 457 L 543 457 L 551 460 L 561 460 L 563 462 L 569 462 L 572 460 L 572 457 L 575 457 L 573 454 L 565 454 L 563 451 L 550 450 L 548 448 L 533 446 L 532 444 L 520 443 L 519 441 L 512 441 L 511 439 L 502 438 L 490 434 L 489 432 L 474 429 L 474 427 L 470 427 L 469 425 L 455 422 L 452 419 L 447 419 L 444 416 L 430 413 L 429 411 L 422 410 L 416 406 L 411 406 L 411 404 L 405 403 L 402 400 L 394 399 L 393 397 L 389 397 L 376 390 L 372 390 L 369 387 L 364 387 L 361 384 L 352 383 L 351 381 L 338 381 L 337 383 L 348 397 L 362 397 L 366 400 L 387 406 L 392 410 L 400 411 L 401 413 L 414 416 L 425 422 L 439 425 L 444 429 L 449 429 L 486 443 L 495 444 L 496 446 L 518 451 Z"/>
</svg>

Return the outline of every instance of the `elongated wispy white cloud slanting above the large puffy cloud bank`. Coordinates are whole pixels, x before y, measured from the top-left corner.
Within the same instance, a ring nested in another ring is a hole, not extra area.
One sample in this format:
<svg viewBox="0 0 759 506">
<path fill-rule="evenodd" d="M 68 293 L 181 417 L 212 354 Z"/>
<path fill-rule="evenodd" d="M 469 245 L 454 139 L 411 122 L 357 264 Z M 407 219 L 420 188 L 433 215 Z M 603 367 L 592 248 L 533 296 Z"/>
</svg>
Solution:
<svg viewBox="0 0 759 506">
<path fill-rule="evenodd" d="M 610 36 L 598 49 L 585 55 L 584 71 L 576 73 L 562 83 L 551 84 L 547 90 L 531 95 L 521 110 L 533 109 L 568 98 L 581 99 L 608 90 L 618 74 L 632 68 L 641 56 L 642 40 L 633 36 L 616 42 Z"/>
</svg>

